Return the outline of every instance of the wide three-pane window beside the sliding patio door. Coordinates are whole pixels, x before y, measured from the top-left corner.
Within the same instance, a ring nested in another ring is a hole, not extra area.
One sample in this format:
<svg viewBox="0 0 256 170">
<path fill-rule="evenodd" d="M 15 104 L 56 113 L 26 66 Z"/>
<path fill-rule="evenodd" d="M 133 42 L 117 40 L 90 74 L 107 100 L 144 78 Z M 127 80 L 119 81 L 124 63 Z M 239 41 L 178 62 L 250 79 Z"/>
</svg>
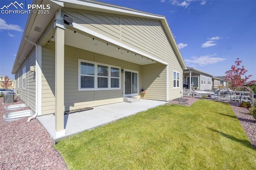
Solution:
<svg viewBox="0 0 256 170">
<path fill-rule="evenodd" d="M 78 90 L 120 89 L 120 67 L 78 59 Z"/>
</svg>

